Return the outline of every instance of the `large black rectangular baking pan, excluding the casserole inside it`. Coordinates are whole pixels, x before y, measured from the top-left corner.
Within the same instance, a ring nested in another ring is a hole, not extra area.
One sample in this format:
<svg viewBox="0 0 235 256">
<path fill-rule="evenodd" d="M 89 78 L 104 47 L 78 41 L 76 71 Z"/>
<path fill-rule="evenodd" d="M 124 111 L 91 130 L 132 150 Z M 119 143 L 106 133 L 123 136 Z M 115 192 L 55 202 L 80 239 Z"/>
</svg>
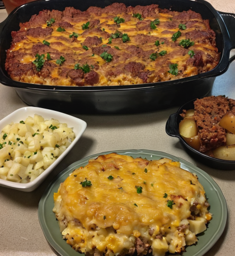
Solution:
<svg viewBox="0 0 235 256">
<path fill-rule="evenodd" d="M 217 36 L 217 46 L 221 59 L 212 71 L 175 81 L 148 83 L 129 86 L 45 86 L 22 83 L 11 80 L 4 69 L 6 50 L 11 45 L 11 31 L 19 30 L 19 22 L 26 22 L 41 10 L 60 10 L 73 6 L 81 11 L 90 6 L 105 7 L 114 2 L 126 6 L 159 4 L 159 8 L 171 8 L 173 11 L 199 12 L 210 21 L 210 27 Z M 203 97 L 212 89 L 216 76 L 227 71 L 229 53 L 235 48 L 235 15 L 219 12 L 203 0 L 40 0 L 16 8 L 0 24 L 0 82 L 14 87 L 20 98 L 28 105 L 54 109 L 67 113 L 138 113 L 143 111 L 182 105 L 196 97 Z"/>
</svg>

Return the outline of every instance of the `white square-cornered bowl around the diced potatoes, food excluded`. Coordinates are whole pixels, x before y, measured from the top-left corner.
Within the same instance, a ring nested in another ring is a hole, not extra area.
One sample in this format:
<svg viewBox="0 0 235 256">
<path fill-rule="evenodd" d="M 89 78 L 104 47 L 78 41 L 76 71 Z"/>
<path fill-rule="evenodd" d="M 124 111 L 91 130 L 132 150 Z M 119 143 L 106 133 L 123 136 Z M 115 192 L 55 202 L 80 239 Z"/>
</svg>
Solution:
<svg viewBox="0 0 235 256">
<path fill-rule="evenodd" d="M 7 117 L 3 118 L 0 121 L 0 131 L 11 122 L 19 123 L 20 120 L 25 120 L 27 117 L 34 117 L 34 114 L 41 115 L 45 120 L 46 119 L 57 119 L 60 123 L 67 123 L 68 127 L 73 128 L 73 132 L 75 134 L 74 141 L 68 146 L 68 148 L 58 157 L 57 160 L 53 162 L 42 174 L 40 174 L 35 180 L 29 183 L 16 183 L 13 181 L 3 180 L 0 179 L 0 186 L 13 188 L 17 190 L 22 190 L 25 192 L 31 192 L 32 190 L 36 189 L 48 176 L 51 170 L 54 169 L 55 166 L 59 164 L 59 162 L 67 155 L 67 153 L 72 149 L 72 147 L 77 143 L 78 139 L 82 136 L 83 132 L 85 131 L 87 124 L 83 120 L 72 117 L 71 115 L 67 115 L 64 113 L 60 113 L 58 111 L 49 110 L 49 109 L 42 109 L 42 108 L 35 108 L 32 106 L 28 106 L 25 108 L 18 109 L 8 115 Z"/>
</svg>

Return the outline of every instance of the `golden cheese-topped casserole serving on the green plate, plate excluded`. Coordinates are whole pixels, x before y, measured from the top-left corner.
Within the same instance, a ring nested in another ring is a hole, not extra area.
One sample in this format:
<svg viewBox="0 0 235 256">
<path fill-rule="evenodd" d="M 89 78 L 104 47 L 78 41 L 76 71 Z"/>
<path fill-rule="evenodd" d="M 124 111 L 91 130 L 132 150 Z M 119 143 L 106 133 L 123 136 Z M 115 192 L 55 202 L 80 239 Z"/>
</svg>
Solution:
<svg viewBox="0 0 235 256">
<path fill-rule="evenodd" d="M 179 162 L 116 153 L 74 170 L 54 203 L 63 238 L 86 255 L 182 253 L 211 219 L 198 177 Z"/>
</svg>

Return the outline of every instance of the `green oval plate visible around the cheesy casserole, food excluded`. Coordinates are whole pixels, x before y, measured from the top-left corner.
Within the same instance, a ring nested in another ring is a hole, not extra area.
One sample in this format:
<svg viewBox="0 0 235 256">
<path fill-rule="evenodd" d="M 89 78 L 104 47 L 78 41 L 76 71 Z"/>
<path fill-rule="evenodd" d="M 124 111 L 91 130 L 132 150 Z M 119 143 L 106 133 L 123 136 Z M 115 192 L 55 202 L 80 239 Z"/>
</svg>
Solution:
<svg viewBox="0 0 235 256">
<path fill-rule="evenodd" d="M 167 157 L 173 161 L 180 161 L 182 169 L 198 175 L 199 181 L 203 185 L 206 197 L 210 203 L 210 212 L 213 214 L 213 218 L 209 223 L 208 229 L 198 236 L 198 243 L 196 245 L 187 246 L 186 252 L 183 255 L 202 256 L 208 252 L 208 250 L 212 248 L 222 235 L 227 221 L 227 204 L 217 183 L 215 183 L 215 181 L 205 173 L 205 171 L 190 164 L 189 162 L 186 162 L 185 160 L 169 155 L 168 153 L 152 150 L 118 150 L 112 152 L 133 157 L 146 157 L 148 160 L 158 160 L 162 157 Z M 69 165 L 64 171 L 55 177 L 49 187 L 45 190 L 43 197 L 39 202 L 38 216 L 45 238 L 48 240 L 55 252 L 62 256 L 78 256 L 79 253 L 73 250 L 62 238 L 58 222 L 55 218 L 54 212 L 52 211 L 54 207 L 53 194 L 57 192 L 60 183 L 62 183 L 74 169 L 86 165 L 89 159 L 95 159 L 97 156 L 107 153 L 111 153 L 111 151 L 88 156 L 82 160 L 74 162 L 72 165 Z"/>
</svg>

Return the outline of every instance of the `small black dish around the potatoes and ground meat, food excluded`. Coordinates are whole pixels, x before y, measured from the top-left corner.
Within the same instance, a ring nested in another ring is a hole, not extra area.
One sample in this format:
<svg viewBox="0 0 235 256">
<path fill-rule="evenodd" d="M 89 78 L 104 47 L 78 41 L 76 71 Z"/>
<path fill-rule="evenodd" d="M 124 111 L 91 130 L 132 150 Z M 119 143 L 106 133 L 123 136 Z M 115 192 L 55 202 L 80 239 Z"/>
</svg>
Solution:
<svg viewBox="0 0 235 256">
<path fill-rule="evenodd" d="M 180 132 L 178 131 L 178 125 L 182 120 L 180 114 L 182 113 L 183 109 L 194 109 L 194 100 L 189 101 L 188 103 L 182 105 L 177 113 L 171 114 L 166 123 L 166 133 L 172 137 L 177 137 L 180 139 L 181 145 L 185 148 L 186 152 L 189 153 L 190 156 L 194 157 L 199 162 L 213 167 L 214 169 L 219 170 L 235 170 L 235 161 L 229 160 L 222 160 L 217 159 L 215 157 L 206 156 L 203 153 L 195 150 L 194 148 L 190 147 L 186 141 L 180 136 Z"/>
</svg>

